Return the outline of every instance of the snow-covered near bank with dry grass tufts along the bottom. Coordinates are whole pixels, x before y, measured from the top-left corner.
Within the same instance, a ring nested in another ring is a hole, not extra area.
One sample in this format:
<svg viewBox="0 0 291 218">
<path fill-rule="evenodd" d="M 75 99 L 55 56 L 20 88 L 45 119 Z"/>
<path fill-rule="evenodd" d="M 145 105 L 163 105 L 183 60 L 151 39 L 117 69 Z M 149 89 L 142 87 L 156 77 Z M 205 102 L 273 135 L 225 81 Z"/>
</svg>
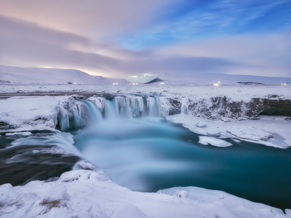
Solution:
<svg viewBox="0 0 291 218">
<path fill-rule="evenodd" d="M 80 163 L 84 168 L 90 164 Z M 59 180 L 32 181 L 25 186 L 0 186 L 0 216 L 60 218 L 147 217 L 291 217 L 282 210 L 222 191 L 174 187 L 158 193 L 120 187 L 103 171 L 73 170 Z"/>
</svg>

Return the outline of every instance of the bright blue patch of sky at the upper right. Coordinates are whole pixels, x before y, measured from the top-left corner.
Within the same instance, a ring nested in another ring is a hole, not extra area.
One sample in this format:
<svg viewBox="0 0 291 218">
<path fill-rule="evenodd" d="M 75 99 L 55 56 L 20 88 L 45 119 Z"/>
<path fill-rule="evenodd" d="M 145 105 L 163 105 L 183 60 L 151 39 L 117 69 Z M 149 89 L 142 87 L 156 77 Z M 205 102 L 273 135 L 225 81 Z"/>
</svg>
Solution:
<svg viewBox="0 0 291 218">
<path fill-rule="evenodd" d="M 185 0 L 163 8 L 152 25 L 117 39 L 125 48 L 142 49 L 219 35 L 278 33 L 290 25 L 290 0 Z"/>
</svg>

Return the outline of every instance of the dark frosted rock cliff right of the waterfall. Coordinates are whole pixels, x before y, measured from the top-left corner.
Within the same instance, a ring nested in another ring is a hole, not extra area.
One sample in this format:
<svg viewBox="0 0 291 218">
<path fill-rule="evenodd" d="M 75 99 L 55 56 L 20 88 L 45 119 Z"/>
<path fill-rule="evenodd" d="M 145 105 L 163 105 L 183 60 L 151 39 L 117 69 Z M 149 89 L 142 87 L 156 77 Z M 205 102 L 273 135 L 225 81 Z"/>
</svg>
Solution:
<svg viewBox="0 0 291 218">
<path fill-rule="evenodd" d="M 168 98 L 171 108 L 169 115 L 181 113 L 181 102 Z M 251 101 L 232 101 L 230 98 L 212 97 L 194 101 L 189 99 L 189 113 L 210 120 L 228 121 L 228 119 L 255 119 L 258 115 L 291 116 L 291 100 L 271 100 L 252 98 Z"/>
</svg>

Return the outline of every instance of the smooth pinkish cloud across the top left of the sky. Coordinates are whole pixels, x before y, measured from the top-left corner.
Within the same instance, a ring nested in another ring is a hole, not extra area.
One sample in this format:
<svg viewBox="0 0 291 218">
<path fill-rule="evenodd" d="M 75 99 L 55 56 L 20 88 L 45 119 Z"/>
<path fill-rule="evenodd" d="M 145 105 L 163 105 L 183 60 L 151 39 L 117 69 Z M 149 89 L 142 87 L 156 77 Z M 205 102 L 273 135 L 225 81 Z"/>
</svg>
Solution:
<svg viewBox="0 0 291 218">
<path fill-rule="evenodd" d="M 146 26 L 173 0 L 2 0 L 0 14 L 94 38 Z"/>
</svg>

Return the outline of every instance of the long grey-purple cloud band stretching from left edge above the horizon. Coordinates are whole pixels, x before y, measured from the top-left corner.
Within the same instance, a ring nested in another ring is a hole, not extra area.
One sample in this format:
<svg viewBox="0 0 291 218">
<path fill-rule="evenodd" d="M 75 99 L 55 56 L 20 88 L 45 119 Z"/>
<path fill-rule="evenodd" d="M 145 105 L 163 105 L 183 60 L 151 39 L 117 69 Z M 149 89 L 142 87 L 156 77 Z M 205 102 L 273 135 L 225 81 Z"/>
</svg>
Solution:
<svg viewBox="0 0 291 218">
<path fill-rule="evenodd" d="M 93 45 L 88 38 L 42 28 L 37 25 L 0 16 L 0 64 L 25 67 L 50 66 L 95 71 L 111 77 L 152 75 L 165 72 L 222 72 L 239 64 L 221 58 L 167 57 L 154 51 L 111 50 L 127 58 L 114 58 L 83 50 L 68 49 L 70 44 Z M 101 46 L 102 47 L 102 46 Z M 104 48 L 110 50 L 110 46 Z"/>
</svg>

